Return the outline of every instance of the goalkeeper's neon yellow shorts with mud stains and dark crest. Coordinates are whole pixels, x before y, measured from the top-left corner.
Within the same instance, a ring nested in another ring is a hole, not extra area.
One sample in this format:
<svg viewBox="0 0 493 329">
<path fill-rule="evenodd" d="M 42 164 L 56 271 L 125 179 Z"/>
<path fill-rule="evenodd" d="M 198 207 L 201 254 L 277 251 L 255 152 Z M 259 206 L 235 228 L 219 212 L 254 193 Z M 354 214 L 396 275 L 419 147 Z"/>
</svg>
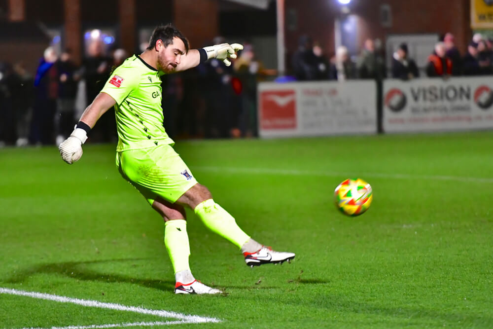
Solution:
<svg viewBox="0 0 493 329">
<path fill-rule="evenodd" d="M 116 152 L 116 166 L 151 205 L 158 196 L 175 203 L 197 183 L 170 145 Z"/>
</svg>

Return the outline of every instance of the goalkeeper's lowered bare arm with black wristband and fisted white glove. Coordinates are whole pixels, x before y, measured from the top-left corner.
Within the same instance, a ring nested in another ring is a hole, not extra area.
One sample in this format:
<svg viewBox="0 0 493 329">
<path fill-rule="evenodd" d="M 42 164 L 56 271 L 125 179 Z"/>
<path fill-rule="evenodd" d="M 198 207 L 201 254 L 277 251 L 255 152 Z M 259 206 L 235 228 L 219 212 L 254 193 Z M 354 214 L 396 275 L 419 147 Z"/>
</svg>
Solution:
<svg viewBox="0 0 493 329">
<path fill-rule="evenodd" d="M 82 113 L 79 122 L 69 138 L 58 146 L 60 155 L 65 162 L 72 164 L 80 159 L 82 156 L 82 144 L 87 140 L 87 133 L 94 127 L 98 119 L 115 104 L 116 101 L 113 97 L 104 92 L 96 96 L 91 105 Z"/>
</svg>

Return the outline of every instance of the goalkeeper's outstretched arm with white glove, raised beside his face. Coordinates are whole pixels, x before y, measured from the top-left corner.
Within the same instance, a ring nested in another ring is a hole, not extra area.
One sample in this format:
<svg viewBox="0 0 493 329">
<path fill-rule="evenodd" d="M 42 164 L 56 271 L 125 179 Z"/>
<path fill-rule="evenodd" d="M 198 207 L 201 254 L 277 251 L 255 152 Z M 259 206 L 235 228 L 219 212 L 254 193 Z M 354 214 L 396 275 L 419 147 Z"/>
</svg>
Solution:
<svg viewBox="0 0 493 329">
<path fill-rule="evenodd" d="M 223 61 L 226 66 L 230 66 L 229 58 L 236 58 L 236 52 L 242 49 L 243 45 L 240 43 L 221 43 L 201 49 L 190 49 L 187 53 L 181 55 L 180 64 L 176 67 L 176 72 L 194 68 L 211 58 L 217 58 Z"/>
</svg>

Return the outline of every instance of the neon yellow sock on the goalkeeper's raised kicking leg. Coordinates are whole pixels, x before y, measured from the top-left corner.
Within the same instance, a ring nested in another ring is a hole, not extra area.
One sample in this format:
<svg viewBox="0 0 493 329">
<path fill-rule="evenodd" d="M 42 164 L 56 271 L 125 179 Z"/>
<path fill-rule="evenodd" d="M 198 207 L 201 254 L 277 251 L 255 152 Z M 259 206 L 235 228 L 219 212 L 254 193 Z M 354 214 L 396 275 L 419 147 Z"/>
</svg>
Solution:
<svg viewBox="0 0 493 329">
<path fill-rule="evenodd" d="M 236 223 L 233 216 L 208 199 L 195 207 L 195 214 L 214 233 L 229 240 L 240 249 L 250 238 Z"/>
</svg>

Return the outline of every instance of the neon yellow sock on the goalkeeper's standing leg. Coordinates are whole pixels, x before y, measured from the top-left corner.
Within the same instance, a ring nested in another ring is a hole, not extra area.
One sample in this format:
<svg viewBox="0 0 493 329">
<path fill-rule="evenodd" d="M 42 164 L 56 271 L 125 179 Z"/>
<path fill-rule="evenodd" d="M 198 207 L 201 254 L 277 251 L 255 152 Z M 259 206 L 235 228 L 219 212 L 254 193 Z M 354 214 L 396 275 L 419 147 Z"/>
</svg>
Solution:
<svg viewBox="0 0 493 329">
<path fill-rule="evenodd" d="M 174 219 L 164 223 L 164 244 L 176 272 L 190 270 L 188 256 L 190 245 L 186 232 L 186 220 Z"/>
</svg>

